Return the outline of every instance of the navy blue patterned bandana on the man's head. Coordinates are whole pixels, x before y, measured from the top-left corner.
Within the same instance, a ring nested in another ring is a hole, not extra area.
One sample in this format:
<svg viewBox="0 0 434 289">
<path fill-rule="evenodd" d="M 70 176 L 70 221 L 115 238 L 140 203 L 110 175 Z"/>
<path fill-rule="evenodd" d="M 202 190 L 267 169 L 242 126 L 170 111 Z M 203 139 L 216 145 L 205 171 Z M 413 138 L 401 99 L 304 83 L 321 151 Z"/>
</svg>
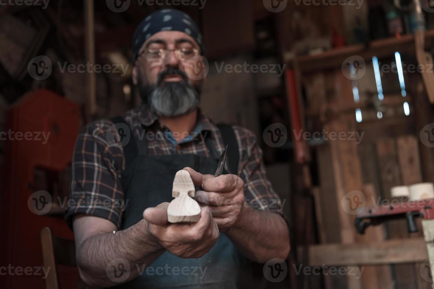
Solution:
<svg viewBox="0 0 434 289">
<path fill-rule="evenodd" d="M 204 54 L 202 35 L 193 19 L 180 10 L 163 9 L 151 13 L 137 26 L 133 36 L 133 63 L 143 43 L 160 31 L 181 31 L 188 34 L 201 48 L 201 54 Z"/>
</svg>

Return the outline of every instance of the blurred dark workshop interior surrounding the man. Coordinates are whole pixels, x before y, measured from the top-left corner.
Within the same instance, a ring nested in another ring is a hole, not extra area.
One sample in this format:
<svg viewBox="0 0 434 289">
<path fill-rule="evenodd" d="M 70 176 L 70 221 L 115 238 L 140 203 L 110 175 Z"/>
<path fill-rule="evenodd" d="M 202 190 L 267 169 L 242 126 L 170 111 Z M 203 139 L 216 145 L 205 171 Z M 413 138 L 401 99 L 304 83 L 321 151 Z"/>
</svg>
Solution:
<svg viewBox="0 0 434 289">
<path fill-rule="evenodd" d="M 288 216 L 257 288 L 434 288 L 433 0 L 0 0 L 0 287 L 84 288 L 74 144 L 140 106 L 133 33 L 161 9 L 197 23 L 201 111 L 256 136 Z"/>
</svg>

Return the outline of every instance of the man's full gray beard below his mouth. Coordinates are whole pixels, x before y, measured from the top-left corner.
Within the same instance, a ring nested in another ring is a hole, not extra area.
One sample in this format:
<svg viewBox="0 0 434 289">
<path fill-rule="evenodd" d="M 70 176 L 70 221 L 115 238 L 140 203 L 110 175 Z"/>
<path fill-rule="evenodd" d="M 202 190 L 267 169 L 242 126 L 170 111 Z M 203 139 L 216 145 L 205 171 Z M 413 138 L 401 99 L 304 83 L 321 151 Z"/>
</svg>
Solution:
<svg viewBox="0 0 434 289">
<path fill-rule="evenodd" d="M 181 82 L 158 80 L 156 85 L 140 84 L 142 101 L 151 112 L 163 117 L 177 117 L 194 111 L 200 103 L 201 88 L 193 87 L 186 79 Z"/>
</svg>

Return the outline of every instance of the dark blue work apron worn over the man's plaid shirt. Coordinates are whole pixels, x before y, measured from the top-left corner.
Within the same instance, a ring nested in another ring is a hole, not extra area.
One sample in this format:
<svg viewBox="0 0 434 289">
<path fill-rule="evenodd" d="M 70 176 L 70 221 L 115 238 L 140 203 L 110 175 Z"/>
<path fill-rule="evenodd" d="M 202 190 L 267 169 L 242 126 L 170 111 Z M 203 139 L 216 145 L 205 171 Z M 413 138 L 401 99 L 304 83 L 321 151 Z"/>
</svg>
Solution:
<svg viewBox="0 0 434 289">
<path fill-rule="evenodd" d="M 122 174 L 125 199 L 129 201 L 121 230 L 141 221 L 145 208 L 173 200 L 172 184 L 178 170 L 189 166 L 202 174 L 214 175 L 220 153 L 216 152 L 210 138 L 205 142 L 212 157 L 194 154 L 148 156 L 145 138 L 135 145 L 137 156 Z M 125 151 L 128 146 L 124 147 L 124 155 L 131 155 Z M 224 173 L 227 173 L 226 169 Z M 220 233 L 214 247 L 200 258 L 183 259 L 166 251 L 149 266 L 153 267 L 151 271 L 143 271 L 140 266 L 143 273 L 118 288 L 241 288 L 247 285 L 246 276 L 252 274 L 251 262 L 224 233 Z"/>
</svg>

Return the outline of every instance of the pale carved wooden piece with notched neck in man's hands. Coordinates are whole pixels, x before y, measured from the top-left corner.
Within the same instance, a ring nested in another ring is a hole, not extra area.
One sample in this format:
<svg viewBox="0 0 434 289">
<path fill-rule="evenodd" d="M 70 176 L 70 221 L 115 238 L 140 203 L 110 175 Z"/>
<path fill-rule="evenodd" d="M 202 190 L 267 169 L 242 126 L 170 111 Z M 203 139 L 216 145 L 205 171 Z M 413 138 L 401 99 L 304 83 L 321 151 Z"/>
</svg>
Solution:
<svg viewBox="0 0 434 289">
<path fill-rule="evenodd" d="M 167 208 L 170 223 L 194 223 L 201 217 L 201 207 L 193 198 L 194 183 L 190 173 L 181 169 L 175 175 L 172 187 L 172 200 Z"/>
</svg>

